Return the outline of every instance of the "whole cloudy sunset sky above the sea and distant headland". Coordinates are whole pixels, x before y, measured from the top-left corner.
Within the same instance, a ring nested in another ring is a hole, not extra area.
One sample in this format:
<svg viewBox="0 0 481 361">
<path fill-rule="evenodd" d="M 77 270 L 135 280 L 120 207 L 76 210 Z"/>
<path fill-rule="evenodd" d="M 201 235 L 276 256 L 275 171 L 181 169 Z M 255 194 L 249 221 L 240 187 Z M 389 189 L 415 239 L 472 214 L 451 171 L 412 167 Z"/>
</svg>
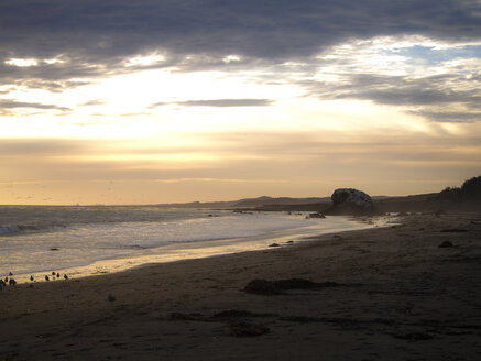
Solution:
<svg viewBox="0 0 481 361">
<path fill-rule="evenodd" d="M 0 204 L 481 174 L 479 0 L 1 0 Z"/>
</svg>

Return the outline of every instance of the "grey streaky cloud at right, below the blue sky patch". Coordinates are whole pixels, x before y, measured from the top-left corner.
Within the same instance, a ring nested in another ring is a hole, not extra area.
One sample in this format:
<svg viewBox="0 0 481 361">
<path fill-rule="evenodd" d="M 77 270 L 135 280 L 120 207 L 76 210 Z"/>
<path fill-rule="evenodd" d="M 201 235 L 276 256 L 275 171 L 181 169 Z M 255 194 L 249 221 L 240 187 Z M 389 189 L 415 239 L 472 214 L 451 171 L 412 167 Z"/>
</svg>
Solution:
<svg viewBox="0 0 481 361">
<path fill-rule="evenodd" d="M 339 83 L 304 80 L 299 85 L 320 99 L 360 99 L 411 107 L 415 109 L 409 113 L 437 122 L 481 121 L 481 83 L 475 77 L 467 79 L 464 75 L 446 74 L 411 78 L 352 74 Z M 458 111 L 450 110 L 452 107 Z"/>
</svg>

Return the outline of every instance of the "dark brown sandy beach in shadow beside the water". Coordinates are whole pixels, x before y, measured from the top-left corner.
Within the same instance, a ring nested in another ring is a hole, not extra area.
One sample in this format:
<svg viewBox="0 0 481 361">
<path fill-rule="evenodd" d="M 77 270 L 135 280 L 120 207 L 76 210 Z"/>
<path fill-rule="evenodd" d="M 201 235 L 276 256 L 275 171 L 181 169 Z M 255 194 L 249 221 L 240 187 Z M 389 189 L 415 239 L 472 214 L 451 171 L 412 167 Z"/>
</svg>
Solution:
<svg viewBox="0 0 481 361">
<path fill-rule="evenodd" d="M 6 287 L 0 360 L 481 360 L 481 215 L 401 222 Z M 293 277 L 339 284 L 243 291 Z"/>
</svg>

